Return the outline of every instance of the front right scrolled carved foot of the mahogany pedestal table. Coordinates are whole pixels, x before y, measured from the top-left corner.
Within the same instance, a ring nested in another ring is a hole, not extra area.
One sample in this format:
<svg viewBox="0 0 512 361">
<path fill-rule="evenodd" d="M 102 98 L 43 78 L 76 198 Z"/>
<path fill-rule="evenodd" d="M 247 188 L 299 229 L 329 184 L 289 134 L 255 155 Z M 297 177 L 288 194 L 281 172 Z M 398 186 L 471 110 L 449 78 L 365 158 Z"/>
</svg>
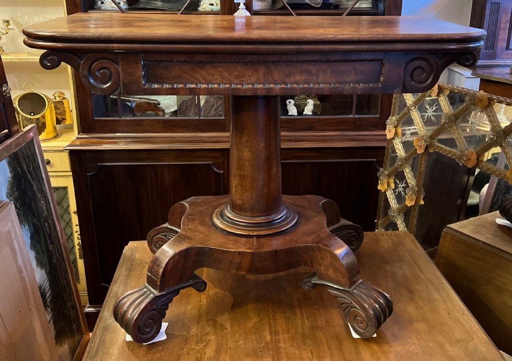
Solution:
<svg viewBox="0 0 512 361">
<path fill-rule="evenodd" d="M 393 301 L 388 294 L 369 283 L 359 281 L 350 289 L 318 279 L 316 274 L 304 280 L 302 288 L 327 288 L 341 304 L 345 319 L 362 339 L 369 339 L 391 316 Z"/>
</svg>

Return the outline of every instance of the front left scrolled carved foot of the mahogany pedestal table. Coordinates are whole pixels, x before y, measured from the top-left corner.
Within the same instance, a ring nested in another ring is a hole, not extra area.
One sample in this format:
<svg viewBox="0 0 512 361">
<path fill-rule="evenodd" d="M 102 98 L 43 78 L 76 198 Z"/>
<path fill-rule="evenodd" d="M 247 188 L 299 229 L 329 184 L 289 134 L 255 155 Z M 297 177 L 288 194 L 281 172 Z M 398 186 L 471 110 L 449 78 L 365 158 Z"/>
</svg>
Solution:
<svg viewBox="0 0 512 361">
<path fill-rule="evenodd" d="M 135 342 L 140 344 L 150 342 L 160 332 L 169 304 L 182 289 L 188 287 L 203 292 L 206 289 L 206 282 L 194 274 L 190 281 L 160 293 L 144 284 L 117 301 L 114 306 L 114 319 Z"/>
</svg>

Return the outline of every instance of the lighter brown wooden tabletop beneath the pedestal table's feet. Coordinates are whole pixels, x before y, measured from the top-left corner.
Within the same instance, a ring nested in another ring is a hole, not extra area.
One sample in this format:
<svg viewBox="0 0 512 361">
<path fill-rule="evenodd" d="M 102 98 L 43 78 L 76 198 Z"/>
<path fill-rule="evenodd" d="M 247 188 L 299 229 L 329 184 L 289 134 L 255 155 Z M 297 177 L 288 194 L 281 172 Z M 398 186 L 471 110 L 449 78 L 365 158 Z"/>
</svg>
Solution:
<svg viewBox="0 0 512 361">
<path fill-rule="evenodd" d="M 274 277 L 202 269 L 206 291 L 186 289 L 170 304 L 166 340 L 126 342 L 112 309 L 144 283 L 152 256 L 146 242 L 131 242 L 84 360 L 502 360 L 409 233 L 365 237 L 356 252 L 362 277 L 388 291 L 395 307 L 377 337 L 353 339 L 334 297 L 299 287 L 304 269 Z"/>
</svg>

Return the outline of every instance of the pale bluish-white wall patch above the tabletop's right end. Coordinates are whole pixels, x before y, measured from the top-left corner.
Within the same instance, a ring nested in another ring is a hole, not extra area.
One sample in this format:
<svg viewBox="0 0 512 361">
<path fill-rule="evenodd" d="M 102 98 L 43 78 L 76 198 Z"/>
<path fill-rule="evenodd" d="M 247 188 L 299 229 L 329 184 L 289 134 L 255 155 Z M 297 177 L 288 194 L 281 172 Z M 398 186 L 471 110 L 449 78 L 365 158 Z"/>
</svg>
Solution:
<svg viewBox="0 0 512 361">
<path fill-rule="evenodd" d="M 472 0 L 403 0 L 402 15 L 428 16 L 470 25 Z"/>
</svg>

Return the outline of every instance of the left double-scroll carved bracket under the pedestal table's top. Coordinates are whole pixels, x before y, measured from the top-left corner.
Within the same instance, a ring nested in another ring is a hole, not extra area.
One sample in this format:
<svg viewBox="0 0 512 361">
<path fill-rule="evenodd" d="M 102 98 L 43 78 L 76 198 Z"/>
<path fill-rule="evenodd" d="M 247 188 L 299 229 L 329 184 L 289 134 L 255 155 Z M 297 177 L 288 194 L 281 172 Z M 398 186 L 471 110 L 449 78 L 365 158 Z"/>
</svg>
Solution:
<svg viewBox="0 0 512 361">
<path fill-rule="evenodd" d="M 80 56 L 46 51 L 39 58 L 39 63 L 46 70 L 56 69 L 62 62 L 71 65 L 80 74 L 82 82 L 93 94 L 111 95 L 119 91 L 121 72 L 116 55 L 92 52 Z"/>
</svg>

